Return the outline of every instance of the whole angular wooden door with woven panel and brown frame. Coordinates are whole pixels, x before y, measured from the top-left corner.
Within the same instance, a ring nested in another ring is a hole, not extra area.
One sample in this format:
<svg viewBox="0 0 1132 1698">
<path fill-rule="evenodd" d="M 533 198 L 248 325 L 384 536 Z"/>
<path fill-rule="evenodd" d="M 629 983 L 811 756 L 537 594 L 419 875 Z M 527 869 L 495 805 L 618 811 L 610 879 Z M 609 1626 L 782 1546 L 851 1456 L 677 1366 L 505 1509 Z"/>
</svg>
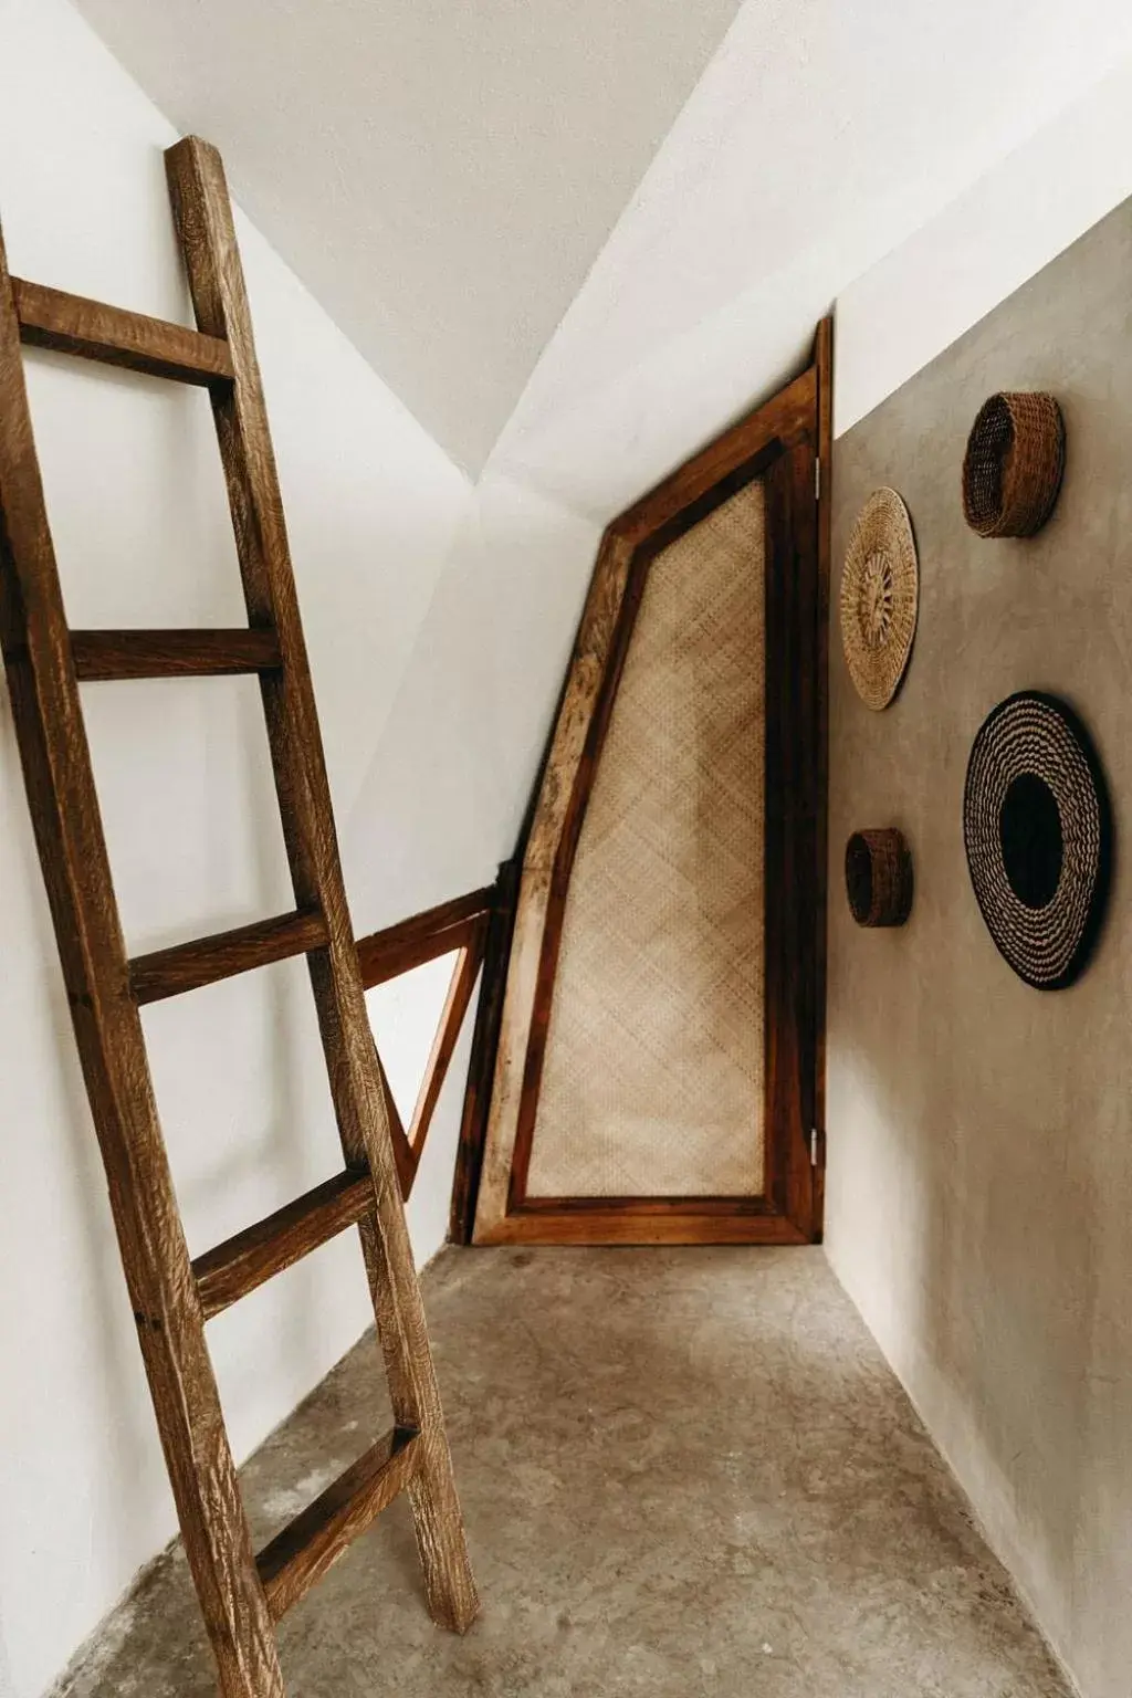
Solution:
<svg viewBox="0 0 1132 1698">
<path fill-rule="evenodd" d="M 477 1243 L 820 1236 L 828 351 L 823 324 L 602 540 L 523 854 Z"/>
</svg>

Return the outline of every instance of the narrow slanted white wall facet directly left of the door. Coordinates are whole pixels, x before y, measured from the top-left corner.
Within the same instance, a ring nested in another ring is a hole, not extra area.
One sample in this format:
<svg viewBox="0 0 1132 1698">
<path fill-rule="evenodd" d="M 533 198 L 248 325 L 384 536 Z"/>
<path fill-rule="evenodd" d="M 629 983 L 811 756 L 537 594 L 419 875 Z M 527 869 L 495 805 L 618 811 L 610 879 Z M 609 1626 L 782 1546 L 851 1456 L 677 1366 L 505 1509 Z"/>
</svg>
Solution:
<svg viewBox="0 0 1132 1698">
<path fill-rule="evenodd" d="M 355 900 L 397 919 L 494 878 L 514 852 L 599 528 L 485 475 L 419 628 L 351 820 Z"/>
</svg>

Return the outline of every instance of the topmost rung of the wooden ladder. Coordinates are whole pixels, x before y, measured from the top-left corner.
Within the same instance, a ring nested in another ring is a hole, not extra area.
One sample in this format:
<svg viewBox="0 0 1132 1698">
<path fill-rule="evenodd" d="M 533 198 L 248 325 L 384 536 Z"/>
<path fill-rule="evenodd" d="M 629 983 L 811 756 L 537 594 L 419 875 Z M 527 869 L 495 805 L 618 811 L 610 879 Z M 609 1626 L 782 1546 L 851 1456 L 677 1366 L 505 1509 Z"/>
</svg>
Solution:
<svg viewBox="0 0 1132 1698">
<path fill-rule="evenodd" d="M 185 324 L 109 307 L 22 277 L 12 278 L 12 292 L 20 341 L 32 348 L 76 353 L 81 360 L 126 365 L 131 372 L 171 377 L 180 384 L 233 380 L 233 355 L 221 336 L 204 336 Z"/>
</svg>

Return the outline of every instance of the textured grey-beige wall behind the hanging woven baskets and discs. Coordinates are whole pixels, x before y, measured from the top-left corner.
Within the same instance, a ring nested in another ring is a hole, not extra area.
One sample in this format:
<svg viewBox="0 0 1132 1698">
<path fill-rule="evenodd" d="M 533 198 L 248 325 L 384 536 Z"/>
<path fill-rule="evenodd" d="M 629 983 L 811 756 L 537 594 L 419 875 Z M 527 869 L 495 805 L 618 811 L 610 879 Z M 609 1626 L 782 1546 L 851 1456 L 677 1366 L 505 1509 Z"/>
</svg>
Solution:
<svg viewBox="0 0 1132 1698">
<path fill-rule="evenodd" d="M 1052 389 L 1066 484 L 1032 542 L 966 530 L 979 402 Z M 896 703 L 830 664 L 828 1250 L 1086 1698 L 1132 1661 L 1132 202 L 838 441 L 833 604 L 859 504 L 905 496 L 920 630 Z M 1117 869 L 1093 964 L 1027 988 L 979 917 L 962 781 L 984 715 L 1064 694 L 1108 771 Z M 859 931 L 842 856 L 898 825 L 903 931 Z"/>
</svg>

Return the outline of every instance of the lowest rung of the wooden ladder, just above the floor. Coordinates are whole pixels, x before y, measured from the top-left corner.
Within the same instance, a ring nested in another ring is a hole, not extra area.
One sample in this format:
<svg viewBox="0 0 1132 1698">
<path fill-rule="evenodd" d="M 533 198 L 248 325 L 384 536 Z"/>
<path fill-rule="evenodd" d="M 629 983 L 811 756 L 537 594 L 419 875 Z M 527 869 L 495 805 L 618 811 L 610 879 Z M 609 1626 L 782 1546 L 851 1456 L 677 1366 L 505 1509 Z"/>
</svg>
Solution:
<svg viewBox="0 0 1132 1698">
<path fill-rule="evenodd" d="M 416 1472 L 421 1435 L 395 1426 L 358 1457 L 256 1557 L 272 1620 L 299 1603 L 348 1545 L 404 1491 Z"/>
</svg>

